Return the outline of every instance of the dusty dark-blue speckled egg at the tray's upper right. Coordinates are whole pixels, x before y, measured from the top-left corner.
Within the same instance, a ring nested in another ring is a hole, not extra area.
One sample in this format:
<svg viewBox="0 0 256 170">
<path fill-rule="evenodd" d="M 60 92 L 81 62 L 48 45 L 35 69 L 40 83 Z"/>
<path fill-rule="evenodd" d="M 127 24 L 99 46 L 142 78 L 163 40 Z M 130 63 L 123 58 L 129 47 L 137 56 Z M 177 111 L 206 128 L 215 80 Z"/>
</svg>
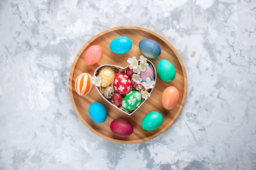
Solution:
<svg viewBox="0 0 256 170">
<path fill-rule="evenodd" d="M 139 50 L 148 58 L 157 58 L 161 54 L 161 47 L 157 42 L 144 39 L 139 42 Z"/>
</svg>

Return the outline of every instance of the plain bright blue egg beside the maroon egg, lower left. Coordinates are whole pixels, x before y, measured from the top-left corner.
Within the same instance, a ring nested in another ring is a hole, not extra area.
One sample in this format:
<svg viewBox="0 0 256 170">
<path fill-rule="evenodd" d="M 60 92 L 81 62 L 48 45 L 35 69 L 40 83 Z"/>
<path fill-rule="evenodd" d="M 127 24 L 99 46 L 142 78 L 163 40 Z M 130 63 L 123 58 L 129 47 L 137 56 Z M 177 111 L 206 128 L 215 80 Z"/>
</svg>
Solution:
<svg viewBox="0 0 256 170">
<path fill-rule="evenodd" d="M 101 103 L 95 102 L 89 107 L 89 115 L 93 121 L 103 123 L 107 118 L 107 111 Z"/>
</svg>

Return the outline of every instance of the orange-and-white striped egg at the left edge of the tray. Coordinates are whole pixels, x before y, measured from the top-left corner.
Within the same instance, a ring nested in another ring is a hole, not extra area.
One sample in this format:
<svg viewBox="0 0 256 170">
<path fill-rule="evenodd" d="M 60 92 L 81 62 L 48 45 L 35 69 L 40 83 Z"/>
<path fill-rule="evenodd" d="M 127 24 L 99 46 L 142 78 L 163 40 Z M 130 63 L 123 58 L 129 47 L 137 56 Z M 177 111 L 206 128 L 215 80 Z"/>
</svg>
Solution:
<svg viewBox="0 0 256 170">
<path fill-rule="evenodd" d="M 88 73 L 80 74 L 75 81 L 77 94 L 84 96 L 92 90 L 92 76 Z"/>
</svg>

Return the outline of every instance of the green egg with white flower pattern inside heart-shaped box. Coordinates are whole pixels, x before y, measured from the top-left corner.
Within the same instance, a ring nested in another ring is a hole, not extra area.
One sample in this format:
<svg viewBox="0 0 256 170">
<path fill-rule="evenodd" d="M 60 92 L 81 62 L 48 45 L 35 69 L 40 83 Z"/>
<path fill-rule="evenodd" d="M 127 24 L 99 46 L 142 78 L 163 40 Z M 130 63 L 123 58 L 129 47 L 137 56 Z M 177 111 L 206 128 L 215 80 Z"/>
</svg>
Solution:
<svg viewBox="0 0 256 170">
<path fill-rule="evenodd" d="M 134 110 L 142 101 L 142 97 L 139 91 L 130 91 L 123 99 L 121 106 L 125 110 Z"/>
</svg>

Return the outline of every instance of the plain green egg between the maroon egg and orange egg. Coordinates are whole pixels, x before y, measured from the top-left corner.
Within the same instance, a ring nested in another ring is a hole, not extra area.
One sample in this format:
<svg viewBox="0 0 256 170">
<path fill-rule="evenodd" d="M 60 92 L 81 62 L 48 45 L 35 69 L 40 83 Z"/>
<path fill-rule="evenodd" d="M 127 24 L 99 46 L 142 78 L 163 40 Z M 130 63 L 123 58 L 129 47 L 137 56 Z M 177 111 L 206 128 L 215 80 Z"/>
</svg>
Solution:
<svg viewBox="0 0 256 170">
<path fill-rule="evenodd" d="M 148 113 L 141 121 L 141 127 L 144 130 L 155 130 L 163 123 L 163 116 L 159 112 Z"/>
</svg>

